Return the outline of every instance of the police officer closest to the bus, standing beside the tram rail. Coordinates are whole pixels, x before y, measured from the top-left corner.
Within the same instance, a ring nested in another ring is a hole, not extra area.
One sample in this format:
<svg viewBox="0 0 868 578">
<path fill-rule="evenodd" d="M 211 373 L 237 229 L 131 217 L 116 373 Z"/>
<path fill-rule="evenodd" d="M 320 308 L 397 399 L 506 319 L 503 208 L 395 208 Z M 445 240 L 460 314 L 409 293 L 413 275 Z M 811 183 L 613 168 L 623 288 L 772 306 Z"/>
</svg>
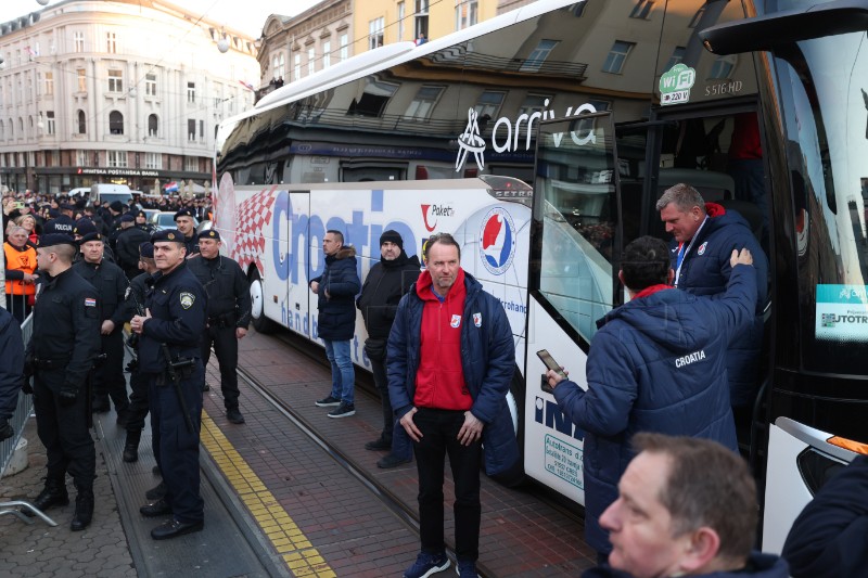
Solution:
<svg viewBox="0 0 868 578">
<path fill-rule="evenodd" d="M 208 325 L 202 339 L 202 363 L 207 367 L 210 348 L 220 365 L 220 389 L 226 418 L 244 423 L 238 409 L 238 341 L 247 334 L 251 294 L 241 267 L 220 255 L 220 233 L 210 229 L 199 235 L 200 257 L 190 259 L 190 270 L 208 293 Z"/>
</svg>

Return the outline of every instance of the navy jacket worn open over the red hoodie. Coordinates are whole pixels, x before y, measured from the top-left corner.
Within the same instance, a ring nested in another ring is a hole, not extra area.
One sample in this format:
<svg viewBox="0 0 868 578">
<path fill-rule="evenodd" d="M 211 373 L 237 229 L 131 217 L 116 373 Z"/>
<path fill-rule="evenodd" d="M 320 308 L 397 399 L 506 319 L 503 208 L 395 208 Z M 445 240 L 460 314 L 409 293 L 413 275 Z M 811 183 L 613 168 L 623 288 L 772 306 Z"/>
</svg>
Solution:
<svg viewBox="0 0 868 578">
<path fill-rule="evenodd" d="M 485 424 L 482 433 L 485 472 L 494 476 L 512 470 L 519 460 L 519 444 L 507 406 L 509 384 L 515 371 L 515 345 L 500 301 L 483 291 L 480 282 L 467 271 L 464 286 L 461 367 L 473 398 L 470 411 Z M 413 284 L 398 304 L 388 335 L 388 398 L 398 419 L 413 407 L 423 308 L 424 301 L 416 294 Z M 478 319 L 478 323 L 474 319 Z"/>
</svg>

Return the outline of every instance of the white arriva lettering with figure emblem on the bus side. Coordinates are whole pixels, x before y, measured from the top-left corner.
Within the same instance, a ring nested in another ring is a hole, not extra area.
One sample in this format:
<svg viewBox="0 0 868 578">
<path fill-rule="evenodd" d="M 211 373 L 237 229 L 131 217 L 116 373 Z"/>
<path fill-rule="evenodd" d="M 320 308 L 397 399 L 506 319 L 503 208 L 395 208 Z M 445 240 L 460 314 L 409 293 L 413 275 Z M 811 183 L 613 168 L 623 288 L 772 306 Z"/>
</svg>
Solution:
<svg viewBox="0 0 868 578">
<path fill-rule="evenodd" d="M 549 105 L 549 99 L 542 103 L 544 106 Z M 590 103 L 585 103 L 573 110 L 572 106 L 566 108 L 566 114 L 563 118 L 571 116 L 578 116 L 583 113 L 596 113 L 597 108 Z M 524 151 L 531 150 L 531 141 L 534 137 L 534 123 L 536 120 L 552 120 L 554 118 L 554 111 L 537 111 L 529 115 L 523 114 L 519 116 L 515 124 L 506 116 L 501 116 L 495 123 L 492 130 L 492 149 L 498 153 L 506 153 L 512 151 L 520 151 L 520 139 L 524 134 Z M 582 146 L 584 144 L 597 142 L 597 136 L 593 133 L 593 128 L 589 128 L 587 134 L 579 136 L 576 131 L 570 132 L 573 142 Z M 560 143 L 563 134 L 554 134 L 556 142 Z M 468 110 L 468 126 L 464 127 L 464 132 L 458 137 L 458 157 L 455 160 L 455 171 L 460 172 L 468 159 L 468 155 L 473 153 L 476 159 L 476 166 L 480 170 L 485 168 L 485 139 L 480 133 L 478 113 L 473 108 Z"/>
</svg>

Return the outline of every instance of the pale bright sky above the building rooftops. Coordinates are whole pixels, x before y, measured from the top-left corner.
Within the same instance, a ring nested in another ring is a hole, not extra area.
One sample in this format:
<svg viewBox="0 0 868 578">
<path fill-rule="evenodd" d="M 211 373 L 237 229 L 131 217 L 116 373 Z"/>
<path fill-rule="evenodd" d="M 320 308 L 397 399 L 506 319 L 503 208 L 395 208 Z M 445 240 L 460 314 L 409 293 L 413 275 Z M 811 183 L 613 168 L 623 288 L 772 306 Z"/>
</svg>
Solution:
<svg viewBox="0 0 868 578">
<path fill-rule="evenodd" d="M 225 24 L 237 30 L 245 33 L 253 38 L 259 38 L 265 20 L 278 12 L 286 16 L 294 16 L 304 12 L 319 0 L 167 0 L 169 3 L 184 8 L 196 15 L 205 14 L 206 17 Z M 48 5 L 60 2 L 49 0 Z M 42 10 L 36 0 L 0 0 L 0 22 L 11 21 L 17 16 Z"/>
</svg>

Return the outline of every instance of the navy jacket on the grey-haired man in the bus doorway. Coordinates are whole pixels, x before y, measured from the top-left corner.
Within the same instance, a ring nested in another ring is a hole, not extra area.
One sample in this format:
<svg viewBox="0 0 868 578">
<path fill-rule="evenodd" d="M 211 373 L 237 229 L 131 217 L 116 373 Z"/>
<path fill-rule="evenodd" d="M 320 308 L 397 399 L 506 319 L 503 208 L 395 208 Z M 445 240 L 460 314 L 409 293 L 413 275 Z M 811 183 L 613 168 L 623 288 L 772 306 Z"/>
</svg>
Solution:
<svg viewBox="0 0 868 578">
<path fill-rule="evenodd" d="M 760 355 L 763 349 L 763 309 L 768 297 L 768 259 L 748 221 L 735 210 L 706 203 L 709 220 L 699 231 L 690 252 L 681 262 L 676 286 L 693 295 L 718 298 L 726 291 L 732 271 L 729 257 L 732 249 L 748 247 L 753 255 L 758 299 L 753 322 L 736 335 L 727 352 L 730 403 L 732 407 L 753 404 L 758 383 Z M 672 268 L 677 269 L 678 245 L 673 242 Z"/>
</svg>

